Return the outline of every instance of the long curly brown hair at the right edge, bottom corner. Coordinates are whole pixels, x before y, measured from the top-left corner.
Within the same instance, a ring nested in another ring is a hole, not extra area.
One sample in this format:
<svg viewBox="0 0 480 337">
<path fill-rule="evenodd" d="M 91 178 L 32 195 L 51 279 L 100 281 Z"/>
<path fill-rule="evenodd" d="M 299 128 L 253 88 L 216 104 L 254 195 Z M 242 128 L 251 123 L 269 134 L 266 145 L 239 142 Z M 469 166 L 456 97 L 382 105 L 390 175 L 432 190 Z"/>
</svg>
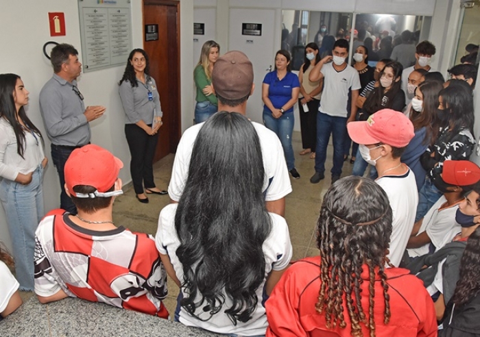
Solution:
<svg viewBox="0 0 480 337">
<path fill-rule="evenodd" d="M 480 227 L 470 234 L 461 255 L 460 277 L 452 302 L 461 305 L 477 296 L 480 291 Z"/>
</svg>

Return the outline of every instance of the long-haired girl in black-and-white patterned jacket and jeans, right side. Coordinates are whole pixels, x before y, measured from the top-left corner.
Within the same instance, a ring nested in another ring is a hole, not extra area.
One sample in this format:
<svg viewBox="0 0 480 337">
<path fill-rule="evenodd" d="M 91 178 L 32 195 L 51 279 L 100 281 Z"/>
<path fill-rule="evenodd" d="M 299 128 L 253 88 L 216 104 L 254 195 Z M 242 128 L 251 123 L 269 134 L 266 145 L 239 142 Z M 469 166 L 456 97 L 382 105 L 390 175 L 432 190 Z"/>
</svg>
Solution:
<svg viewBox="0 0 480 337">
<path fill-rule="evenodd" d="M 418 192 L 415 222 L 446 192 L 442 180 L 445 160 L 468 160 L 475 147 L 472 88 L 465 81 L 451 79 L 439 92 L 436 118 L 440 128 L 437 139 L 427 148 L 420 161 L 427 178 Z"/>
</svg>

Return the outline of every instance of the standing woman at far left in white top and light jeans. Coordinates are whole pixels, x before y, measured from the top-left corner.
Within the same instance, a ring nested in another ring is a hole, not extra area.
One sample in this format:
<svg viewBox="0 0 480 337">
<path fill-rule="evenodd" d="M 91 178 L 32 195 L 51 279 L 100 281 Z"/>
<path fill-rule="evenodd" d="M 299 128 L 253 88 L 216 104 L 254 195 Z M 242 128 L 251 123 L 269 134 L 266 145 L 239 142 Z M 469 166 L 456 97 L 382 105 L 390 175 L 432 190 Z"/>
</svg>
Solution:
<svg viewBox="0 0 480 337">
<path fill-rule="evenodd" d="M 25 105 L 29 92 L 15 74 L 0 75 L 0 201 L 12 238 L 20 290 L 34 290 L 35 229 L 44 215 L 43 137 Z"/>
</svg>

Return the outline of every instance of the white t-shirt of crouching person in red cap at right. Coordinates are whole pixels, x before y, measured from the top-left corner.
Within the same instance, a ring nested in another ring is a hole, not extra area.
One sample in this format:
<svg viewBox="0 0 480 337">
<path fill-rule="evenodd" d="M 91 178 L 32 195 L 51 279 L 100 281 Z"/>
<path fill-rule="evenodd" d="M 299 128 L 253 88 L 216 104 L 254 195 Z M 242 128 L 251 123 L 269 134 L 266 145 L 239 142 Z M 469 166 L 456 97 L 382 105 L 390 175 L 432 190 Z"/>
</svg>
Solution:
<svg viewBox="0 0 480 337">
<path fill-rule="evenodd" d="M 451 242 L 455 235 L 461 231 L 461 226 L 455 221 L 458 203 L 440 210 L 444 203 L 446 203 L 446 197 L 442 195 L 424 216 L 422 225 L 418 230 L 418 234 L 427 232 L 432 244 L 435 246 L 435 251 Z M 427 254 L 429 253 L 429 245 L 428 243 L 422 247 L 407 249 L 408 254 L 411 258 Z"/>
</svg>

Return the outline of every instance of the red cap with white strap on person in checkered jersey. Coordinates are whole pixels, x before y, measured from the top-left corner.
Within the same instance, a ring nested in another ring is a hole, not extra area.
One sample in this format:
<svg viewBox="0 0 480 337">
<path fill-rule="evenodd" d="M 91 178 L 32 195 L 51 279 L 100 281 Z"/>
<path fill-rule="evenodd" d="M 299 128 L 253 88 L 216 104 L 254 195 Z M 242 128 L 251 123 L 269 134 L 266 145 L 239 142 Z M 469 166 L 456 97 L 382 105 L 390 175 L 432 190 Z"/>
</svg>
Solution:
<svg viewBox="0 0 480 337">
<path fill-rule="evenodd" d="M 98 145 L 85 145 L 75 149 L 65 163 L 65 184 L 73 197 L 95 198 L 121 195 L 122 191 L 107 192 L 119 176 L 123 162 Z M 75 193 L 77 185 L 93 186 L 97 190 L 88 195 Z M 107 193 L 106 193 L 107 192 Z"/>
</svg>

